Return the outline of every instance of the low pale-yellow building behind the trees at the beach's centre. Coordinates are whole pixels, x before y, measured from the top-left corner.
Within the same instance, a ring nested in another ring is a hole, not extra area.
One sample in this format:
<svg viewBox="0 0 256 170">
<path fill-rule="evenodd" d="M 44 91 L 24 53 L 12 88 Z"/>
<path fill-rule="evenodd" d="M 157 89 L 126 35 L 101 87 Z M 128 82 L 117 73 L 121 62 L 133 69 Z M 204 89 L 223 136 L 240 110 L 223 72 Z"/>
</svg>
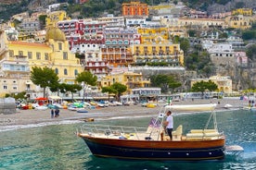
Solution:
<svg viewBox="0 0 256 170">
<path fill-rule="evenodd" d="M 99 87 L 108 87 L 113 83 L 119 82 L 127 87 L 127 94 L 131 94 L 132 89 L 135 88 L 145 88 L 149 87 L 150 80 L 144 79 L 142 74 L 134 72 L 120 72 L 116 74 L 111 74 L 101 79 L 99 82 Z"/>
</svg>

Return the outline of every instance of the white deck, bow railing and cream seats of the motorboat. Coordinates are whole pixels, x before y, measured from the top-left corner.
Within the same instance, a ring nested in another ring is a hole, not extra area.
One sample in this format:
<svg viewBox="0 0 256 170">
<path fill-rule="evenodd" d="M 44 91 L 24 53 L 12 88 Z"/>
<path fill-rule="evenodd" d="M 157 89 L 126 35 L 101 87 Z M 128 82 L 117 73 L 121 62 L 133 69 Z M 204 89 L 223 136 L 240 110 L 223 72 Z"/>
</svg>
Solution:
<svg viewBox="0 0 256 170">
<path fill-rule="evenodd" d="M 160 128 L 134 128 L 122 126 L 85 125 L 77 130 L 79 136 L 113 140 L 170 140 Z M 218 140 L 224 138 L 216 129 L 191 129 L 183 134 L 182 128 L 173 131 L 173 140 Z"/>
</svg>

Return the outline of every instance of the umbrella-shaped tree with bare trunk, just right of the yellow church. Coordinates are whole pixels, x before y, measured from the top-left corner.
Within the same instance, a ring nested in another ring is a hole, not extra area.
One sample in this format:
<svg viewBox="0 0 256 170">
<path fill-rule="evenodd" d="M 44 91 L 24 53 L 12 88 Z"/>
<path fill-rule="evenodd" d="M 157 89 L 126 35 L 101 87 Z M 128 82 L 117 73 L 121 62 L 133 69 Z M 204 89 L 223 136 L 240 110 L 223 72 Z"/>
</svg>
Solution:
<svg viewBox="0 0 256 170">
<path fill-rule="evenodd" d="M 84 90 L 88 85 L 96 86 L 97 77 L 93 75 L 90 71 L 83 71 L 79 73 L 76 77 L 76 81 L 82 83 L 83 82 L 83 101 L 84 101 Z"/>
</svg>

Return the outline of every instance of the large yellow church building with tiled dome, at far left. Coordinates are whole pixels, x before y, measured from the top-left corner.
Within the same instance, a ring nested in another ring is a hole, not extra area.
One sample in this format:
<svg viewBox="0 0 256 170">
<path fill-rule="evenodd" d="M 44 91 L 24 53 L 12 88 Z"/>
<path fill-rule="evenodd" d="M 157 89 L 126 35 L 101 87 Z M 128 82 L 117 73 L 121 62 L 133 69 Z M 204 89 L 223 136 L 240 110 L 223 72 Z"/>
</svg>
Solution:
<svg viewBox="0 0 256 170">
<path fill-rule="evenodd" d="M 38 96 L 42 91 L 30 80 L 32 67 L 50 67 L 58 74 L 60 82 L 68 84 L 74 84 L 76 75 L 83 71 L 80 60 L 70 53 L 64 33 L 57 28 L 47 30 L 44 43 L 6 42 L 6 49 L 1 56 L 0 71 L 4 72 L 5 79 L 17 79 L 16 86 L 7 85 L 5 80 L 5 88 L 17 87 L 17 90 L 5 93 L 26 91 L 32 99 Z"/>
</svg>

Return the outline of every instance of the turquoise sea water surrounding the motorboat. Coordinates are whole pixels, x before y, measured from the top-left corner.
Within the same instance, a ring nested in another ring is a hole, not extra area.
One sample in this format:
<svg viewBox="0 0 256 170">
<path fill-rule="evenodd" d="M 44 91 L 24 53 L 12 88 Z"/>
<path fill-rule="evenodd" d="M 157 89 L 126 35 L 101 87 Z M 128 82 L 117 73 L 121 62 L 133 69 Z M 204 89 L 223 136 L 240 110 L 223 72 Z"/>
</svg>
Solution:
<svg viewBox="0 0 256 170">
<path fill-rule="evenodd" d="M 218 128 L 226 144 L 244 148 L 222 161 L 154 162 L 97 158 L 74 134 L 81 124 L 51 125 L 0 132 L 0 169 L 256 169 L 256 112 L 229 111 L 217 114 Z M 210 114 L 173 115 L 174 128 L 204 128 Z M 97 124 L 147 127 L 151 117 L 101 120 Z"/>
</svg>

